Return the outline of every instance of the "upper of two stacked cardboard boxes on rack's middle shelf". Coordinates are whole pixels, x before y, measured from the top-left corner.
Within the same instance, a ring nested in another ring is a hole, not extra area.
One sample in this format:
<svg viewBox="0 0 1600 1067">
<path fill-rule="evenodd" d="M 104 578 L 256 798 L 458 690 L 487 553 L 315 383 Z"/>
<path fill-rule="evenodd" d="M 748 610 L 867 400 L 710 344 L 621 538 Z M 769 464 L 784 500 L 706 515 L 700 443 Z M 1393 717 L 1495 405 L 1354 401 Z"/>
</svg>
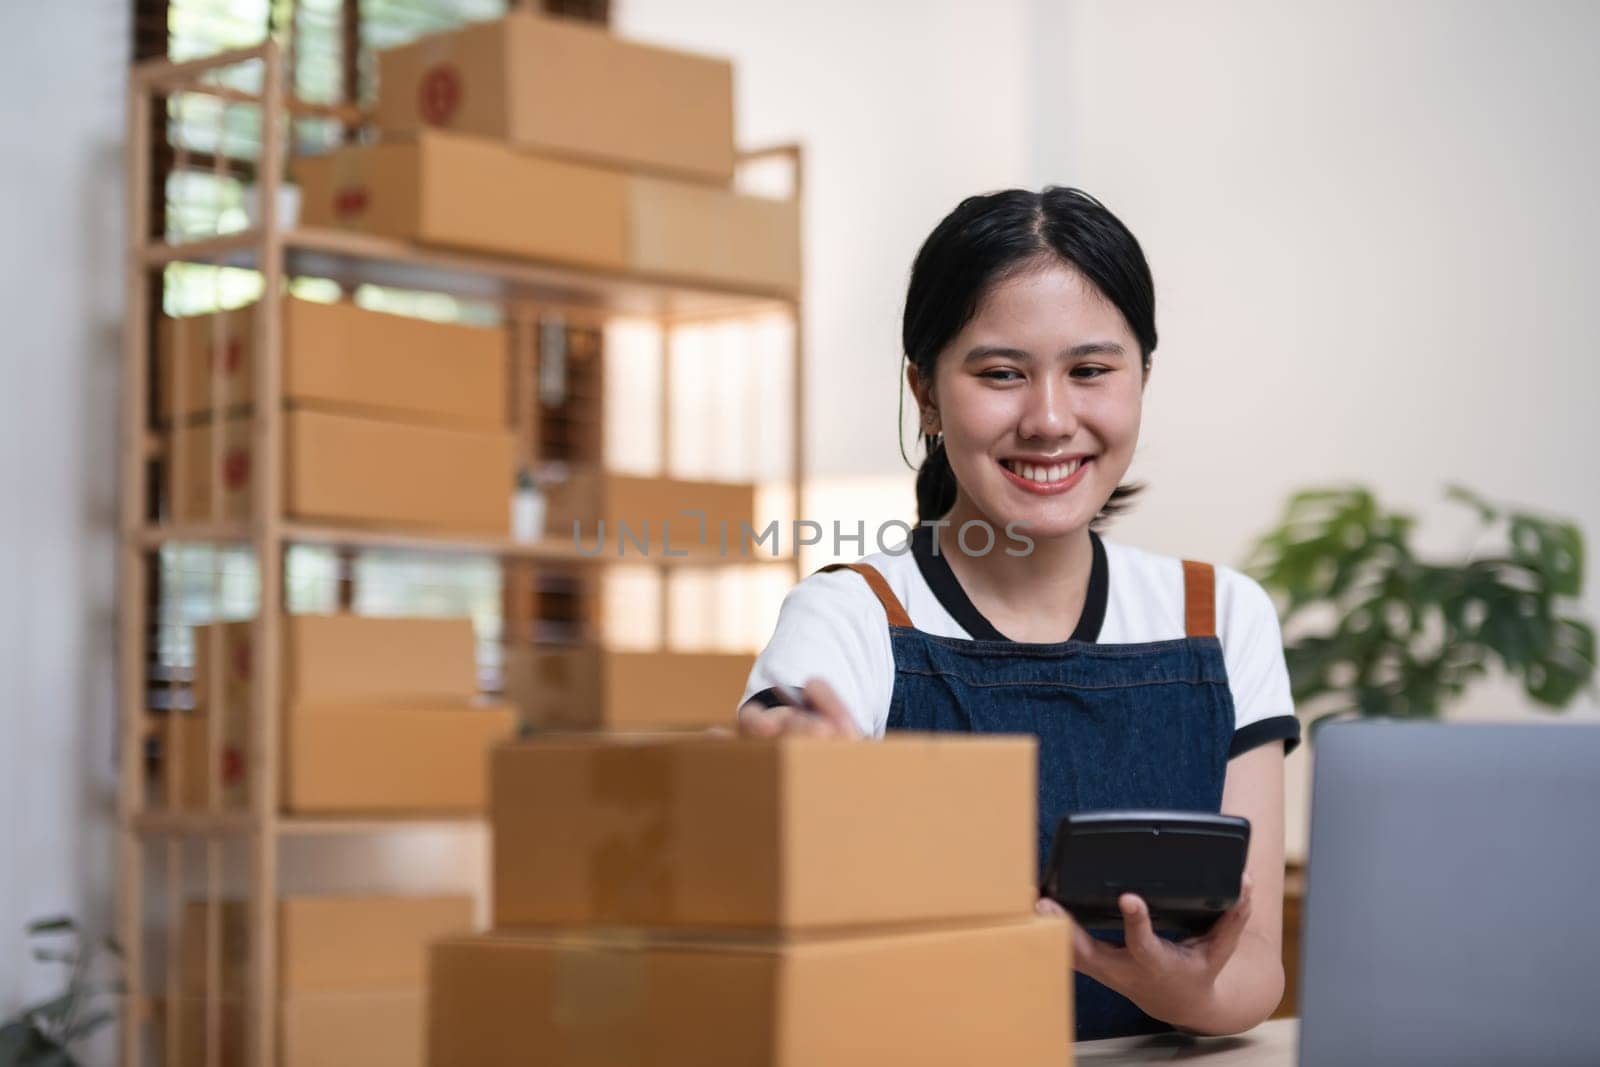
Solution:
<svg viewBox="0 0 1600 1067">
<path fill-rule="evenodd" d="M 181 354 L 182 413 L 211 410 L 222 371 L 222 408 L 254 403 L 256 306 L 162 318 L 160 395 L 171 418 Z M 346 414 L 506 426 L 506 331 L 366 310 L 354 304 L 283 301 L 283 398 Z"/>
</svg>

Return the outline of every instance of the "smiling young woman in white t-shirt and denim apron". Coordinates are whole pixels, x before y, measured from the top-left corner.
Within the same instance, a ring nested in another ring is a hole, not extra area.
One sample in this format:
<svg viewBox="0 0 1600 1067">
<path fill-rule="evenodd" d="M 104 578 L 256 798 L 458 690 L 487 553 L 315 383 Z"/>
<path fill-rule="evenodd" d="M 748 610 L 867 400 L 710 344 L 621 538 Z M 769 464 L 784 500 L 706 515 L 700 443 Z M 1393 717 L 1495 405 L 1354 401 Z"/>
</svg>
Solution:
<svg viewBox="0 0 1600 1067">
<path fill-rule="evenodd" d="M 1299 741 L 1272 601 L 1094 531 L 1138 491 L 1122 478 L 1155 350 L 1139 243 L 1074 189 L 971 197 L 917 254 L 902 341 L 926 450 L 909 552 L 790 590 L 741 733 L 1032 733 L 1042 861 L 1069 811 L 1248 817 L 1245 893 L 1203 937 L 1158 937 L 1134 894 L 1125 937 L 1074 925 L 1075 1003 L 1080 1040 L 1261 1022 L 1283 993 Z"/>
</svg>

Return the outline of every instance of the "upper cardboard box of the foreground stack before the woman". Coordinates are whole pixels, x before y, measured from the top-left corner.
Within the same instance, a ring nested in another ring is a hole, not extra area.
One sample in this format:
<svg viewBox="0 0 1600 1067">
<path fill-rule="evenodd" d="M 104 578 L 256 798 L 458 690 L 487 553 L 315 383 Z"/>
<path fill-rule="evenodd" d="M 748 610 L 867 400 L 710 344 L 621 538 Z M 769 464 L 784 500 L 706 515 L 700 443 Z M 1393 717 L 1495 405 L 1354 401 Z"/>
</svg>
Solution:
<svg viewBox="0 0 1600 1067">
<path fill-rule="evenodd" d="M 494 926 L 1032 912 L 1037 742 L 566 734 L 494 750 Z"/>
</svg>

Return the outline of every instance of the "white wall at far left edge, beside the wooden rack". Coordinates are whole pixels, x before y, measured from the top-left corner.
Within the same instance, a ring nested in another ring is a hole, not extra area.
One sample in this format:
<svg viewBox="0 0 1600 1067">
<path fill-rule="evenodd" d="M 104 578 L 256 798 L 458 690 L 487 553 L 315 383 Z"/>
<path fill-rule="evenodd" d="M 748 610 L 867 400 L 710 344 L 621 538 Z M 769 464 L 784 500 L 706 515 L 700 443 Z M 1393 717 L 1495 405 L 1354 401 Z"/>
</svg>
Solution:
<svg viewBox="0 0 1600 1067">
<path fill-rule="evenodd" d="M 0 5 L 0 1016 L 109 933 L 125 0 Z"/>
</svg>

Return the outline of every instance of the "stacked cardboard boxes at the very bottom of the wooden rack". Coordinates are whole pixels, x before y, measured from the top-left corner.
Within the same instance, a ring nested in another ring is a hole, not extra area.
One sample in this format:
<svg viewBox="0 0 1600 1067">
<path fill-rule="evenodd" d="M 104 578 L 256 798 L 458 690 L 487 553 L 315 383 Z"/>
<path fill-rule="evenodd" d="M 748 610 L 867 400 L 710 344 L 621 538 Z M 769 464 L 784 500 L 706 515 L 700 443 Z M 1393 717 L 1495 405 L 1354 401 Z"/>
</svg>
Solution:
<svg viewBox="0 0 1600 1067">
<path fill-rule="evenodd" d="M 243 1065 L 248 912 L 218 902 L 219 1067 Z M 422 1067 L 427 945 L 470 931 L 466 896 L 290 896 L 278 902 L 282 1067 Z M 206 1064 L 206 904 L 179 933 L 179 1067 Z M 157 1013 L 165 1022 L 165 1011 Z M 174 1062 L 166 1059 L 165 1062 Z"/>
</svg>

